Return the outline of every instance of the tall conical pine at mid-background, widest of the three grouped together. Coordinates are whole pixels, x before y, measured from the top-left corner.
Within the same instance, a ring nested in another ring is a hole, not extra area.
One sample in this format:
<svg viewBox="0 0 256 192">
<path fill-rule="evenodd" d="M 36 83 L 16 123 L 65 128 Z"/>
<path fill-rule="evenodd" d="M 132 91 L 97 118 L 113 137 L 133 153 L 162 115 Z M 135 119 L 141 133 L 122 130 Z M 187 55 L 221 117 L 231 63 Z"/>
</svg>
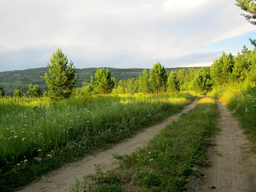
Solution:
<svg viewBox="0 0 256 192">
<path fill-rule="evenodd" d="M 164 66 L 162 67 L 162 65 L 157 61 L 153 65 L 153 68 L 149 70 L 149 75 L 149 82 L 154 93 L 166 91 L 168 76 Z"/>
</svg>

